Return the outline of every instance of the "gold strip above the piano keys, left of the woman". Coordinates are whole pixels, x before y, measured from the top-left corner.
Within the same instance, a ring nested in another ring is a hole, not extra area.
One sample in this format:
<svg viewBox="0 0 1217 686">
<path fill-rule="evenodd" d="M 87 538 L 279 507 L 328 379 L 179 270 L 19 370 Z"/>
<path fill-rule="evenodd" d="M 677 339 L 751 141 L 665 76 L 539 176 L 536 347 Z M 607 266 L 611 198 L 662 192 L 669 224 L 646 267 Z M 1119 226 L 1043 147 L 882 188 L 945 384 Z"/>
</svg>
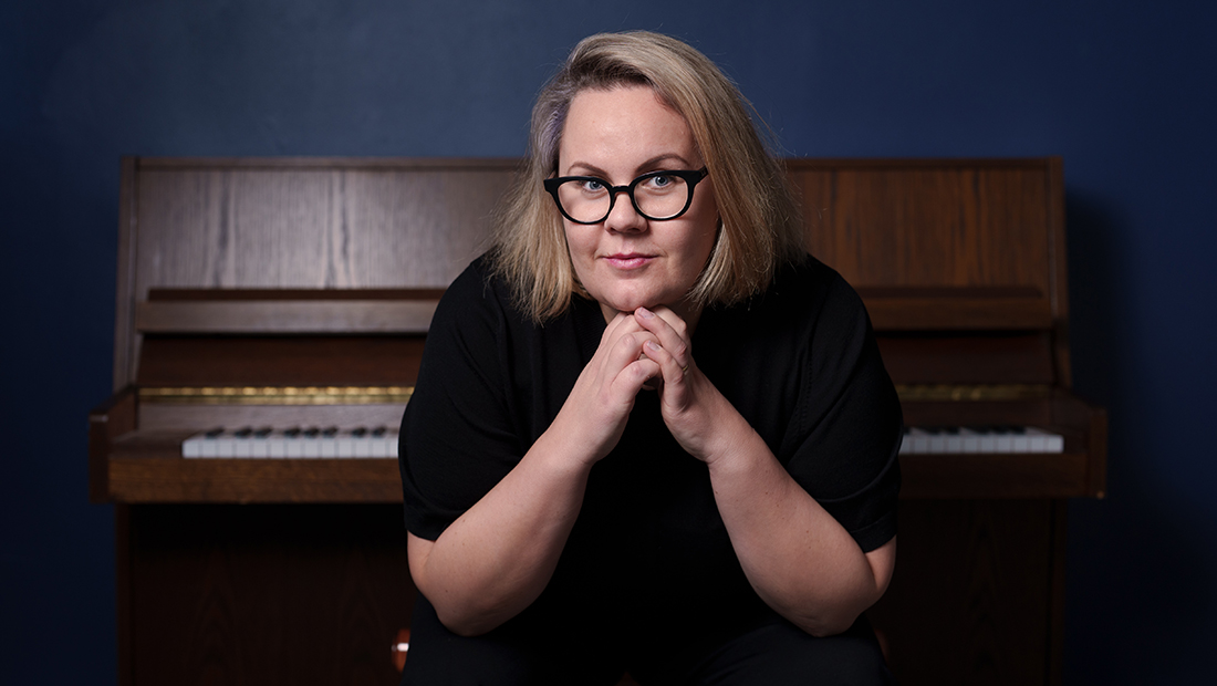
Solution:
<svg viewBox="0 0 1217 686">
<path fill-rule="evenodd" d="M 393 405 L 413 386 L 204 386 L 140 388 L 140 401 L 192 405 Z"/>
</svg>

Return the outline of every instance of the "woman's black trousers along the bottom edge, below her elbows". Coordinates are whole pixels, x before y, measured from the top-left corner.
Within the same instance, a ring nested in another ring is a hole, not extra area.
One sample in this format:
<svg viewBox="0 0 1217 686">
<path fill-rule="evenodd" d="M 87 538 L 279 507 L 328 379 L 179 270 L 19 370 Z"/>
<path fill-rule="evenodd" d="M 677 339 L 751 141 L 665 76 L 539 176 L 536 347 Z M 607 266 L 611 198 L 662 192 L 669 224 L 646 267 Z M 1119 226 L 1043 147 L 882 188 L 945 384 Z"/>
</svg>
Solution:
<svg viewBox="0 0 1217 686">
<path fill-rule="evenodd" d="M 405 686 L 612 686 L 627 671 L 643 686 L 894 684 L 865 617 L 825 639 L 776 614 L 739 631 L 694 631 L 694 640 L 527 622 L 462 637 L 419 596 L 410 634 Z"/>
</svg>

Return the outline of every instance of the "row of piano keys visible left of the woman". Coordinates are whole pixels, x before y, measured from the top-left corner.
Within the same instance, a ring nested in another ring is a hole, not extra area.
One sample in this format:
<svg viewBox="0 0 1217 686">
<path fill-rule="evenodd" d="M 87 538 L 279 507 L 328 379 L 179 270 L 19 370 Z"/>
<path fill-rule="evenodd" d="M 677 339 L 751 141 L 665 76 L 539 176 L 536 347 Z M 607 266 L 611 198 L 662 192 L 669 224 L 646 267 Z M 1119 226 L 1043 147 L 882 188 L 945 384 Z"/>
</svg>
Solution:
<svg viewBox="0 0 1217 686">
<path fill-rule="evenodd" d="M 387 427 L 214 428 L 181 443 L 183 457 L 397 457 Z"/>
</svg>

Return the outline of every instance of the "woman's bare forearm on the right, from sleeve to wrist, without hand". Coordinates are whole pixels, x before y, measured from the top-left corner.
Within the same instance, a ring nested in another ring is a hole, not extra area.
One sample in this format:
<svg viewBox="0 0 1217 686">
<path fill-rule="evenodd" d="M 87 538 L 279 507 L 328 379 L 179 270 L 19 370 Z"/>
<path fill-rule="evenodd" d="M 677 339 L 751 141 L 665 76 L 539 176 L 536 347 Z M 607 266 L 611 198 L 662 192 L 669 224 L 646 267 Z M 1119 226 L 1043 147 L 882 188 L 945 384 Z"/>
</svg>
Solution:
<svg viewBox="0 0 1217 686">
<path fill-rule="evenodd" d="M 736 415 L 738 417 L 738 415 Z M 707 460 L 719 513 L 748 581 L 813 635 L 837 634 L 884 592 L 891 549 L 868 556 L 738 417 Z M 886 546 L 885 546 L 886 547 Z"/>
</svg>

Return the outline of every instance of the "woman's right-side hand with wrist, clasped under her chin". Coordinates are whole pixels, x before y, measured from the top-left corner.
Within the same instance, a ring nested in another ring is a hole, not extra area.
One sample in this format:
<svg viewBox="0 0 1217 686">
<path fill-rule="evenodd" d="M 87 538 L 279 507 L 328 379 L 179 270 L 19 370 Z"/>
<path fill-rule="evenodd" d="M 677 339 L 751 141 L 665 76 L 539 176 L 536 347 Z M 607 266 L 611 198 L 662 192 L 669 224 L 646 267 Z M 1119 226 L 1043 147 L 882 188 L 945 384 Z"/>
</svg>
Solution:
<svg viewBox="0 0 1217 686">
<path fill-rule="evenodd" d="M 666 307 L 654 311 L 639 308 L 634 319 L 654 336 L 643 343 L 643 354 L 658 365 L 656 386 L 663 422 L 685 451 L 708 462 L 731 445 L 736 434 L 751 433 L 747 421 L 697 369 L 689 327 L 679 315 Z"/>
</svg>

